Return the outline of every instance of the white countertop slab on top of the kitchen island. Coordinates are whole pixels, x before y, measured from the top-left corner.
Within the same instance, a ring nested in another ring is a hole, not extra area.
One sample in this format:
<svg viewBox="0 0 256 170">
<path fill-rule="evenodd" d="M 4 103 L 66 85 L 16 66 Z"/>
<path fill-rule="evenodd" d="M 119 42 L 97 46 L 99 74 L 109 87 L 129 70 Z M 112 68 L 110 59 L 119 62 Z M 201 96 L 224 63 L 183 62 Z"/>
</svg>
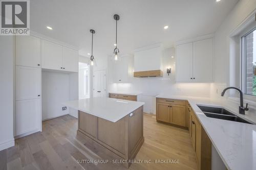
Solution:
<svg viewBox="0 0 256 170">
<path fill-rule="evenodd" d="M 127 114 L 144 105 L 143 102 L 104 97 L 69 101 L 63 104 L 111 122 L 117 122 Z"/>
</svg>

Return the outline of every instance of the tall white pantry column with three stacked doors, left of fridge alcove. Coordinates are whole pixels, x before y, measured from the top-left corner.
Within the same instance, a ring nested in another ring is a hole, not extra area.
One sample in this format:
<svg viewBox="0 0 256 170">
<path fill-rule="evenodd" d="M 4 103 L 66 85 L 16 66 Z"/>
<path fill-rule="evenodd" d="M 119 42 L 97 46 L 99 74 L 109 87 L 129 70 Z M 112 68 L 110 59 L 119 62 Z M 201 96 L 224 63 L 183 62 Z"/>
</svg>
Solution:
<svg viewBox="0 0 256 170">
<path fill-rule="evenodd" d="M 40 39 L 15 37 L 15 136 L 41 131 Z"/>
</svg>

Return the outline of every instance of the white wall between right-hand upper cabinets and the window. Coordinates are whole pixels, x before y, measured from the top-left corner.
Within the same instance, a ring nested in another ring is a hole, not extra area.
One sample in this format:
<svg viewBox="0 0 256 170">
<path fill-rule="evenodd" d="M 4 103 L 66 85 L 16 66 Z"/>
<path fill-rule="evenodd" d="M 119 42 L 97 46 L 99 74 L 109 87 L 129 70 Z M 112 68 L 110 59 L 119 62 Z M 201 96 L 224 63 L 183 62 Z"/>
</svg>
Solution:
<svg viewBox="0 0 256 170">
<path fill-rule="evenodd" d="M 230 45 L 233 45 L 233 39 L 231 39 L 231 33 L 237 29 L 240 24 L 256 9 L 255 0 L 241 0 L 228 14 L 226 19 L 222 22 L 221 26 L 215 33 L 215 59 L 214 59 L 214 75 L 215 83 L 211 85 L 210 96 L 214 99 L 218 99 L 220 103 L 226 102 L 226 98 L 220 96 L 221 91 L 229 85 L 238 85 L 238 82 L 229 77 L 229 70 L 238 70 L 238 64 L 233 62 L 234 53 L 230 52 Z M 230 59 L 229 59 L 230 58 Z M 239 59 L 237 59 L 239 60 Z M 234 65 L 229 66 L 229 62 L 232 61 Z M 236 75 L 239 77 L 239 74 Z"/>
</svg>

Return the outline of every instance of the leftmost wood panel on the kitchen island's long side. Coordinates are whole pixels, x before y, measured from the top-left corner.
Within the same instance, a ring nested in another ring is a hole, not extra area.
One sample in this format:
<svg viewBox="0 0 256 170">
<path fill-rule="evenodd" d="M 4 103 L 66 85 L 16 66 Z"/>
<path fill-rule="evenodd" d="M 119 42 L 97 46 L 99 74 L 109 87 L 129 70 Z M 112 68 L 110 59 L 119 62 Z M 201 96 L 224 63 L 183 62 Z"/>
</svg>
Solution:
<svg viewBox="0 0 256 170">
<path fill-rule="evenodd" d="M 79 125 L 78 128 L 83 132 L 86 132 L 90 136 L 97 137 L 97 117 L 91 114 L 87 114 L 79 111 Z"/>
</svg>

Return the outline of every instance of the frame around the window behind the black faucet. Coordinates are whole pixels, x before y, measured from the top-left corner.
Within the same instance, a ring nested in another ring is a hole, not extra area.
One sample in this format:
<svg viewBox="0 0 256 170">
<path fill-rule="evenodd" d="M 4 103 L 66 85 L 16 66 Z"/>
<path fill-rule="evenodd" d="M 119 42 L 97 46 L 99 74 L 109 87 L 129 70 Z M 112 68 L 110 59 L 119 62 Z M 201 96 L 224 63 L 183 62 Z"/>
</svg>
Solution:
<svg viewBox="0 0 256 170">
<path fill-rule="evenodd" d="M 244 93 L 245 99 L 248 100 L 252 100 L 252 101 L 256 101 L 256 95 L 252 95 L 252 94 L 246 94 L 246 75 L 245 75 L 245 69 L 246 69 L 246 63 L 245 63 L 245 37 L 246 35 L 250 34 L 251 32 L 256 30 L 256 24 L 253 23 L 253 25 L 250 25 L 249 27 L 247 27 L 245 30 L 243 30 L 243 32 L 239 35 L 239 46 L 240 46 L 240 53 L 239 53 L 239 57 L 240 57 L 240 86 L 241 89 Z"/>
</svg>

